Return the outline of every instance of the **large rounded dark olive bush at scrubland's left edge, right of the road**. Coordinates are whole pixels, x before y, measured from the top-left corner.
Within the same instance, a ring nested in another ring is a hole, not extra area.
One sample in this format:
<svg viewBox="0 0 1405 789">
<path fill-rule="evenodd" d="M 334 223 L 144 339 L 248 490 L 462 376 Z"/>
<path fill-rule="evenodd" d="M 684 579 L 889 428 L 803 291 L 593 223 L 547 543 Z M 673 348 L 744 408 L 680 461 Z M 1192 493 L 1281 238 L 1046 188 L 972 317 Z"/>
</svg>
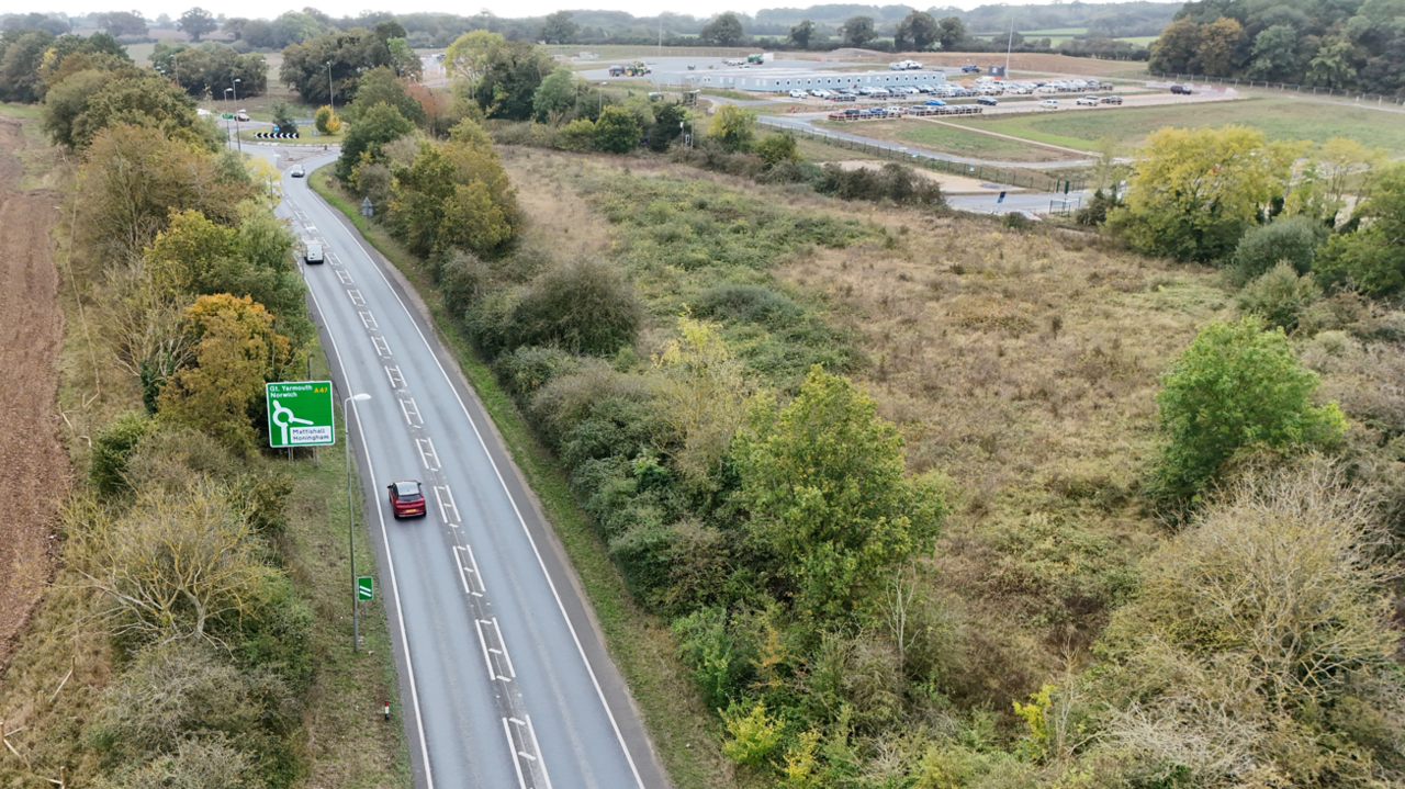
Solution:
<svg viewBox="0 0 1405 789">
<path fill-rule="evenodd" d="M 513 310 L 516 345 L 608 355 L 634 341 L 643 309 L 614 267 L 577 260 L 534 281 Z"/>
</svg>

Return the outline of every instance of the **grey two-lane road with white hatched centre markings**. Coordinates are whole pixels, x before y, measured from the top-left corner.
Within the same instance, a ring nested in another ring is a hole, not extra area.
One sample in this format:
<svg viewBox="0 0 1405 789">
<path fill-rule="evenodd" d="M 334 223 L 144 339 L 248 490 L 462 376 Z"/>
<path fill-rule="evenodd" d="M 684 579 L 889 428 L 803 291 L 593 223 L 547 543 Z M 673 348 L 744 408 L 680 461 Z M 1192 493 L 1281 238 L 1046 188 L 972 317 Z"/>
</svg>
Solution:
<svg viewBox="0 0 1405 789">
<path fill-rule="evenodd" d="M 337 397 L 372 396 L 351 437 L 414 785 L 667 786 L 549 525 L 413 295 L 305 178 L 284 177 L 280 215 L 327 250 L 303 274 Z M 427 517 L 393 519 L 398 479 L 424 483 Z"/>
</svg>

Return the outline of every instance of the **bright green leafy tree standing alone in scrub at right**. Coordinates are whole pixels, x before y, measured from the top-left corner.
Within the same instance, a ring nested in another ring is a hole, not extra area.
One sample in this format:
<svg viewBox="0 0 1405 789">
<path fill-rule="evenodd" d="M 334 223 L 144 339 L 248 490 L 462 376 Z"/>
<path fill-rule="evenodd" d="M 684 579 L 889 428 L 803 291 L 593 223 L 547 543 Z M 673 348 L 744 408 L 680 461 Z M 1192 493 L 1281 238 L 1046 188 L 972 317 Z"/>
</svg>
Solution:
<svg viewBox="0 0 1405 789">
<path fill-rule="evenodd" d="M 1156 494 L 1193 501 L 1243 449 L 1294 451 L 1342 439 L 1335 403 L 1312 406 L 1316 373 L 1304 369 L 1281 329 L 1253 316 L 1211 323 L 1176 359 L 1156 402 L 1166 446 L 1152 470 Z"/>
</svg>

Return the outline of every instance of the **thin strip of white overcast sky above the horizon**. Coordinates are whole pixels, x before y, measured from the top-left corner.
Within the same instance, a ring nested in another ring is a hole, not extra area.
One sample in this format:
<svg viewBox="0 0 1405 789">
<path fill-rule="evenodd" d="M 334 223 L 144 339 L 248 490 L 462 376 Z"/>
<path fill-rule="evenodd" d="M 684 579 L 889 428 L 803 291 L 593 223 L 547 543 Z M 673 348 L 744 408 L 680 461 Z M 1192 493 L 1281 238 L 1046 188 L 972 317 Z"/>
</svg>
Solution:
<svg viewBox="0 0 1405 789">
<path fill-rule="evenodd" d="M 295 0 L 296 4 L 288 0 L 207 0 L 198 3 L 200 7 L 205 8 L 212 14 L 225 14 L 226 17 L 263 17 L 274 18 L 284 11 L 302 10 L 306 6 L 320 8 L 322 11 L 333 17 L 354 17 L 361 11 L 384 11 L 393 10 L 396 13 L 413 13 L 413 11 L 427 11 L 427 13 L 447 13 L 447 14 L 462 14 L 469 15 L 479 8 L 486 8 L 499 17 L 540 17 L 542 14 L 549 14 L 552 11 L 559 11 L 562 8 L 610 8 L 618 11 L 628 11 L 638 17 L 652 17 L 660 11 L 660 3 L 656 0 L 607 0 L 604 3 L 590 3 L 583 6 L 582 3 L 563 3 L 561 0 L 517 0 L 511 4 L 478 4 L 472 0 L 452 1 L 452 0 L 413 0 L 413 1 L 398 1 L 389 3 L 386 0 Z M 957 6 L 961 8 L 974 8 L 988 0 L 941 0 L 936 3 L 939 6 Z M 4 4 L 18 6 L 18 0 L 4 0 Z M 94 11 L 117 11 L 117 10 L 135 10 L 140 11 L 146 18 L 155 20 L 162 14 L 170 14 L 171 18 L 177 18 L 187 8 L 194 6 L 191 0 L 69 0 L 67 3 L 59 4 L 65 13 L 69 14 L 90 14 Z M 804 8 L 811 6 L 809 0 L 790 3 L 739 3 L 738 0 L 698 0 L 694 3 L 667 3 L 662 4 L 662 10 L 672 11 L 676 14 L 691 14 L 694 17 L 708 17 L 718 14 L 721 11 L 738 11 L 754 14 L 760 8 L 773 7 L 798 7 Z M 875 3 L 881 4 L 881 3 Z M 917 4 L 919 8 L 927 8 L 933 3 Z M 15 8 L 11 8 L 11 11 Z"/>
</svg>

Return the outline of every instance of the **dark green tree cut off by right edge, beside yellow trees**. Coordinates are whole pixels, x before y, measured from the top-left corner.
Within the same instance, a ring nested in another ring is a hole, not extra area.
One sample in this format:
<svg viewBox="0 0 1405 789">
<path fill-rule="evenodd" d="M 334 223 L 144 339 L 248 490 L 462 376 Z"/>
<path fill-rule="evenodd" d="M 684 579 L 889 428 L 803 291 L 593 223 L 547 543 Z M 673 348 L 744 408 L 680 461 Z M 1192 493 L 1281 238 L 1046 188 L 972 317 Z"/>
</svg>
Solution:
<svg viewBox="0 0 1405 789">
<path fill-rule="evenodd" d="M 1405 164 L 1377 170 L 1353 216 L 1356 230 L 1333 236 L 1314 270 L 1325 285 L 1390 298 L 1405 292 Z"/>
</svg>

